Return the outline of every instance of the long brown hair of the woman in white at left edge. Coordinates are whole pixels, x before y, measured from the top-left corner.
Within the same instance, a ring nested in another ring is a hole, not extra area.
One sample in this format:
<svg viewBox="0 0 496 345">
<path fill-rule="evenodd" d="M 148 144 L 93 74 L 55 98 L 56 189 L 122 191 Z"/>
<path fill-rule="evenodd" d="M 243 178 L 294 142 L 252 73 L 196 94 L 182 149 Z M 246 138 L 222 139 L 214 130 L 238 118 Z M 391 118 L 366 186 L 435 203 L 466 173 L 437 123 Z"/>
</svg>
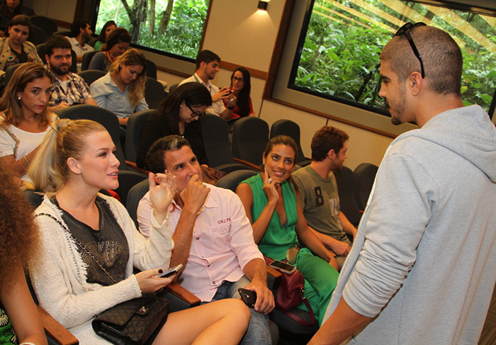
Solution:
<svg viewBox="0 0 496 345">
<path fill-rule="evenodd" d="M 4 120 L 1 121 L 1 125 L 14 125 L 16 127 L 21 125 L 24 120 L 24 114 L 21 105 L 22 100 L 18 98 L 18 93 L 23 92 L 31 81 L 43 79 L 45 77 L 50 80 L 50 84 L 53 83 L 52 75 L 45 67 L 35 62 L 21 64 L 21 66 L 13 72 L 9 84 L 7 84 L 5 88 L 4 96 L 0 99 L 0 111 L 4 112 Z M 46 128 L 50 123 L 48 103 L 40 114 L 35 115 L 35 119 L 41 129 Z"/>
</svg>

